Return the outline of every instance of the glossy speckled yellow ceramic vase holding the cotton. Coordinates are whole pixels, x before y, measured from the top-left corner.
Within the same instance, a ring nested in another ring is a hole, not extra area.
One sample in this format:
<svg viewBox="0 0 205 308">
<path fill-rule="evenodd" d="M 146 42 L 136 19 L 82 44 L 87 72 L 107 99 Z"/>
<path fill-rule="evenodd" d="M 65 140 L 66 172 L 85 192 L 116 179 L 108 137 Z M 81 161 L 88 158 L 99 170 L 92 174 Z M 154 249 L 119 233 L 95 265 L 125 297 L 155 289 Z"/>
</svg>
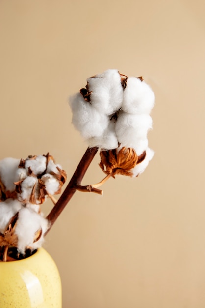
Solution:
<svg viewBox="0 0 205 308">
<path fill-rule="evenodd" d="M 0 262 L 0 308 L 62 308 L 61 280 L 50 254 Z"/>
</svg>

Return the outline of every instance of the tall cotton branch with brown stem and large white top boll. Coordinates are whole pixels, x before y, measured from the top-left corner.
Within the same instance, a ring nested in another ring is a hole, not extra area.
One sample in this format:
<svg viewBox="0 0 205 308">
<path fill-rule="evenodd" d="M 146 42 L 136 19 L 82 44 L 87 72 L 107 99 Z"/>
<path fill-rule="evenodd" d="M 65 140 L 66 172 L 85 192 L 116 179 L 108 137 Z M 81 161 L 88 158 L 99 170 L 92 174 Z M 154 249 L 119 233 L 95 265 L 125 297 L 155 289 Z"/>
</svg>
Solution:
<svg viewBox="0 0 205 308">
<path fill-rule="evenodd" d="M 146 169 L 154 156 L 147 139 L 154 101 L 154 92 L 142 77 L 127 77 L 115 69 L 88 78 L 85 88 L 70 97 L 72 123 L 88 148 L 47 216 L 50 226 L 77 190 L 102 194 L 99 187 L 110 177 L 137 177 Z M 106 176 L 97 184 L 83 186 L 81 181 L 98 151 Z"/>
</svg>

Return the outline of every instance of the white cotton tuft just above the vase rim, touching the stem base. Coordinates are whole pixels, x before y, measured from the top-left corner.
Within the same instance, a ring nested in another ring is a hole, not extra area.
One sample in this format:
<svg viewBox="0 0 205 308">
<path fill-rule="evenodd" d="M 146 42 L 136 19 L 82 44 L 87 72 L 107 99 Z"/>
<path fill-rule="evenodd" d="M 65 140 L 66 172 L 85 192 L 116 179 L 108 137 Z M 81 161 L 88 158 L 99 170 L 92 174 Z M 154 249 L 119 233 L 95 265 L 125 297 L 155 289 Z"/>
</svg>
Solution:
<svg viewBox="0 0 205 308">
<path fill-rule="evenodd" d="M 48 228 L 48 220 L 43 216 L 37 214 L 32 209 L 22 208 L 19 211 L 19 217 L 15 229 L 15 233 L 18 236 L 18 250 L 21 253 L 25 252 L 26 248 L 37 249 L 41 247 L 44 241 L 43 234 Z M 35 234 L 39 230 L 42 230 L 42 236 L 40 239 L 33 243 Z"/>
</svg>

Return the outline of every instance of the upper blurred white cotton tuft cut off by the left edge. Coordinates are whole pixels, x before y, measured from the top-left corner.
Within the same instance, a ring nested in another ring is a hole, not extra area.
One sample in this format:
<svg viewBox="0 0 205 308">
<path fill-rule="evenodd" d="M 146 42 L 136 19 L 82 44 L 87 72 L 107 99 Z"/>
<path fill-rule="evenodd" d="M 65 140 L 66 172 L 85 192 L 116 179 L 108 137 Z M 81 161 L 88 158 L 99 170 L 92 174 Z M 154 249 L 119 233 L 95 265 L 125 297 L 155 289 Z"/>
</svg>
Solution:
<svg viewBox="0 0 205 308">
<path fill-rule="evenodd" d="M 14 182 L 19 180 L 16 174 L 19 162 L 19 159 L 10 157 L 0 160 L 0 178 L 6 190 L 13 191 L 15 189 Z"/>
</svg>

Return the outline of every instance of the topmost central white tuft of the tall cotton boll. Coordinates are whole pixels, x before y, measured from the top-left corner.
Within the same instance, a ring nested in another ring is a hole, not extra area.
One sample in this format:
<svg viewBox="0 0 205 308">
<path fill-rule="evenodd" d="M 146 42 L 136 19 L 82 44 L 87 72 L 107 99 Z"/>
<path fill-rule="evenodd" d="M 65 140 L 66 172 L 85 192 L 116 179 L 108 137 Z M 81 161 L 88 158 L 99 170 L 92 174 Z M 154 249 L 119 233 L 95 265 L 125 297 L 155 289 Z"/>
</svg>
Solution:
<svg viewBox="0 0 205 308">
<path fill-rule="evenodd" d="M 87 79 L 91 104 L 101 113 L 111 115 L 120 109 L 123 100 L 121 76 L 116 69 Z"/>
</svg>

